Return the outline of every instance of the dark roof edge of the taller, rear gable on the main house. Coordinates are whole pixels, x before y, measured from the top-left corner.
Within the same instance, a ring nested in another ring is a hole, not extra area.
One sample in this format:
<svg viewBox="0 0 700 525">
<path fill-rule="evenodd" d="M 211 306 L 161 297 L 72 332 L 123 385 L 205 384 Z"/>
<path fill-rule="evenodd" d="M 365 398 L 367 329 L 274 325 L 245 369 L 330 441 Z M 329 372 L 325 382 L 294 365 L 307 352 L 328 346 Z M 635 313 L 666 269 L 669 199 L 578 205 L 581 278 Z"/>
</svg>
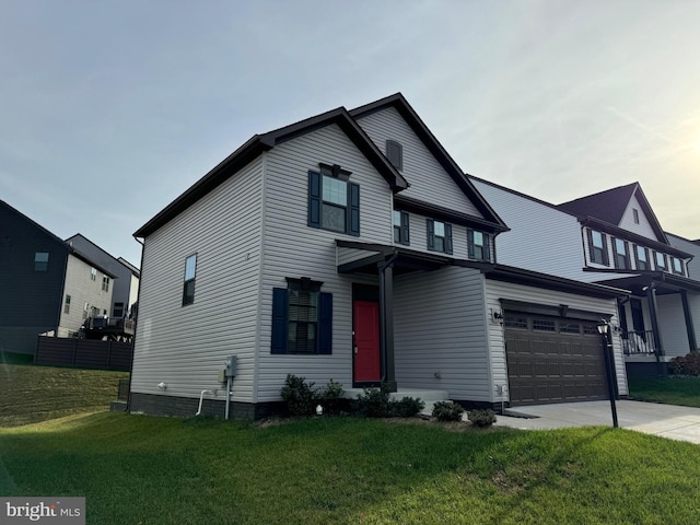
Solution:
<svg viewBox="0 0 700 525">
<path fill-rule="evenodd" d="M 395 93 L 393 95 L 381 98 L 376 102 L 365 104 L 364 106 L 355 107 L 350 110 L 350 115 L 354 118 L 362 118 L 373 113 L 381 112 L 388 107 L 394 107 L 399 115 L 406 120 L 408 126 L 412 129 L 416 136 L 428 148 L 440 165 L 445 170 L 447 175 L 455 182 L 455 184 L 462 189 L 462 191 L 471 200 L 474 206 L 479 210 L 481 215 L 489 222 L 495 223 L 500 230 L 508 230 L 505 222 L 499 217 L 493 208 L 486 201 L 486 199 L 474 187 L 471 182 L 467 178 L 464 171 L 452 159 L 450 153 L 443 148 L 435 136 L 428 129 L 428 126 L 421 120 L 416 110 L 411 107 L 408 101 L 401 93 Z"/>
</svg>

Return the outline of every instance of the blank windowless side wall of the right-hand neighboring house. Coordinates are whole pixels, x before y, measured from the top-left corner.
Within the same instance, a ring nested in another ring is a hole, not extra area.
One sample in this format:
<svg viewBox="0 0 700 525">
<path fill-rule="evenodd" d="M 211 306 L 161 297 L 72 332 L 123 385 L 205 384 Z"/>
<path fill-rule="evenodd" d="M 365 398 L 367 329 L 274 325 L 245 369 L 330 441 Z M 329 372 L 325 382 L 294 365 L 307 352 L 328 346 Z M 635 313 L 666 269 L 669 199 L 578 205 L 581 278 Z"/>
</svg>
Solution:
<svg viewBox="0 0 700 525">
<path fill-rule="evenodd" d="M 472 183 L 511 228 L 495 238 L 500 264 L 583 280 L 585 261 L 576 218 L 500 187 Z"/>
</svg>

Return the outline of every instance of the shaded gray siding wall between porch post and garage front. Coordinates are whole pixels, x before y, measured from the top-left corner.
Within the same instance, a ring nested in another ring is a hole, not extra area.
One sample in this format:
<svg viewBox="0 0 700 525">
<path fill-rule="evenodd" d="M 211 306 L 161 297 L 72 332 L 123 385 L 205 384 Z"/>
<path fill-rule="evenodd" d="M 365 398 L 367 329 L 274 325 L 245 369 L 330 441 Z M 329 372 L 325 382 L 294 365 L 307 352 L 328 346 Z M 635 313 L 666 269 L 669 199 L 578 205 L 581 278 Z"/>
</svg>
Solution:
<svg viewBox="0 0 700 525">
<path fill-rule="evenodd" d="M 394 293 L 398 385 L 491 401 L 482 275 L 448 267 L 399 277 Z"/>
</svg>

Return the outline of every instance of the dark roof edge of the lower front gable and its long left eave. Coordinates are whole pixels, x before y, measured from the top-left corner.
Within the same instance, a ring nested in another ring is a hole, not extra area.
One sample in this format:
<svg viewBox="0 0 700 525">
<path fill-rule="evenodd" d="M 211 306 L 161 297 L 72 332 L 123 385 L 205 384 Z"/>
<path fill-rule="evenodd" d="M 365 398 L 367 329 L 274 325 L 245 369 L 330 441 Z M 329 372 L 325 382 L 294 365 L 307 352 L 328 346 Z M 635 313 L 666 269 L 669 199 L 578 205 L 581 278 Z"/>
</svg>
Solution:
<svg viewBox="0 0 700 525">
<path fill-rule="evenodd" d="M 189 189 L 141 226 L 133 236 L 145 237 L 155 232 L 205 195 L 223 184 L 238 170 L 257 159 L 262 152 L 269 151 L 276 145 L 287 142 L 288 140 L 292 140 L 331 124 L 338 125 L 338 127 L 358 147 L 382 177 L 384 177 L 394 191 L 400 191 L 401 189 L 408 188 L 408 182 L 388 162 L 384 154 L 376 148 L 374 142 L 372 142 L 372 140 L 366 136 L 364 130 L 350 116 L 348 110 L 345 107 L 339 107 L 267 133 L 253 136 L 247 142 L 241 145 L 241 148 L 231 153 L 207 175 L 197 180 L 189 187 Z"/>
</svg>

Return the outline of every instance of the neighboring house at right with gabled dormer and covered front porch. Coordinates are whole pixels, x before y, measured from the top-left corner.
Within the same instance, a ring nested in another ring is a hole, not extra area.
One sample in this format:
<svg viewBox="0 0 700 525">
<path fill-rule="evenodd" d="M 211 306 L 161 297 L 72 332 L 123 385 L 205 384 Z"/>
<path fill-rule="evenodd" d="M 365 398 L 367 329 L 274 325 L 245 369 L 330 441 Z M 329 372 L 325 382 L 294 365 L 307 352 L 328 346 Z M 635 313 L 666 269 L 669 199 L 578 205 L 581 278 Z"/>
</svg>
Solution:
<svg viewBox="0 0 700 525">
<path fill-rule="evenodd" d="M 629 291 L 616 339 L 631 373 L 697 348 L 700 281 L 688 271 L 700 246 L 664 233 L 638 183 L 555 207 L 470 179 L 513 225 L 499 237 L 502 262 Z"/>
</svg>

